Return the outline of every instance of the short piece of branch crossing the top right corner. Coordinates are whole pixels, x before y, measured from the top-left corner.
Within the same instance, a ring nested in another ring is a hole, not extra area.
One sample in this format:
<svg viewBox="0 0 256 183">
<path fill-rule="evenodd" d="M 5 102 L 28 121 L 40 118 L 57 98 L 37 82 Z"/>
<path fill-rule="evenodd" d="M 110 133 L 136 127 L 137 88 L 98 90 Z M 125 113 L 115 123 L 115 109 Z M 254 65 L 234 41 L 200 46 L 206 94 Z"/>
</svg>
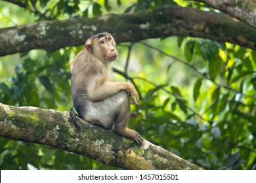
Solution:
<svg viewBox="0 0 256 183">
<path fill-rule="evenodd" d="M 255 0 L 197 0 L 209 5 L 210 7 L 217 8 L 242 20 L 246 24 L 256 28 L 256 1 Z"/>
</svg>

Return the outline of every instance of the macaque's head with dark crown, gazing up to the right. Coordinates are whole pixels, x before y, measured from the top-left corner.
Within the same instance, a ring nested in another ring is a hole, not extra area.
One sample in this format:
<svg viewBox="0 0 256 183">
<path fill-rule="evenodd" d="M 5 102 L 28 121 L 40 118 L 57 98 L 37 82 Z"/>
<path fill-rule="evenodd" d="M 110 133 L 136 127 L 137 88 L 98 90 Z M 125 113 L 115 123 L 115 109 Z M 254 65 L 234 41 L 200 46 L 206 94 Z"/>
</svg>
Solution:
<svg viewBox="0 0 256 183">
<path fill-rule="evenodd" d="M 110 33 L 99 33 L 85 42 L 85 49 L 104 63 L 117 59 L 115 46 L 116 42 Z"/>
</svg>

